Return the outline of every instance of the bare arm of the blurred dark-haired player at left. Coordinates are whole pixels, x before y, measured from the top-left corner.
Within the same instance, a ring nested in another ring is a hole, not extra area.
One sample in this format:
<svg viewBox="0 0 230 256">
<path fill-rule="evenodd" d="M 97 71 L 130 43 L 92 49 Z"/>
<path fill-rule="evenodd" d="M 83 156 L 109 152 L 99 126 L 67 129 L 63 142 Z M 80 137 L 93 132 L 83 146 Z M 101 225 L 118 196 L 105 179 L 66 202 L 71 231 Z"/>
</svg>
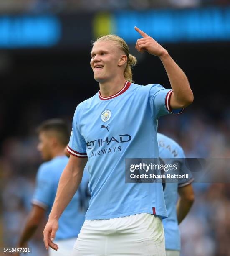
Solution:
<svg viewBox="0 0 230 256">
<path fill-rule="evenodd" d="M 20 238 L 18 241 L 18 248 L 27 247 L 27 242 L 30 240 L 30 238 L 33 236 L 33 234 L 37 230 L 44 215 L 45 215 L 44 208 L 38 205 L 33 205 L 30 211 L 30 214 L 26 220 L 25 227 L 20 235 Z M 16 255 L 19 256 L 19 253 Z"/>
</svg>

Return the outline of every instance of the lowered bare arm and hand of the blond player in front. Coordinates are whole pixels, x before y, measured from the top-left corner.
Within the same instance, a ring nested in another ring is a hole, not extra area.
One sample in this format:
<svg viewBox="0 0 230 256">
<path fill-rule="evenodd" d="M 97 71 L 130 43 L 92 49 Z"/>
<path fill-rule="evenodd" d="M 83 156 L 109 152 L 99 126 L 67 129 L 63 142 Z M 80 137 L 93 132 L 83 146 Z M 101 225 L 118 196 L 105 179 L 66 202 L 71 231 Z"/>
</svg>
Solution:
<svg viewBox="0 0 230 256">
<path fill-rule="evenodd" d="M 53 207 L 43 231 L 45 248 L 47 250 L 49 246 L 56 251 L 58 250 L 58 245 L 53 243 L 56 231 L 58 230 L 58 219 L 81 183 L 86 162 L 87 158 L 78 158 L 71 155 L 66 168 L 61 174 Z"/>
</svg>

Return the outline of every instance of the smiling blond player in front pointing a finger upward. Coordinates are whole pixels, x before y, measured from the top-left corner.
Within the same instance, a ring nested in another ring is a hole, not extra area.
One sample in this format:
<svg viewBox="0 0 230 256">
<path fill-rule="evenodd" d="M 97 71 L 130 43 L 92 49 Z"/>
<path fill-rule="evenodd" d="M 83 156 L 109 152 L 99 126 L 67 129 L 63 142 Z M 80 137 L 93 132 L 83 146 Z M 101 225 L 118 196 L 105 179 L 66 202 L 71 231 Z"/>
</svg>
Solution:
<svg viewBox="0 0 230 256">
<path fill-rule="evenodd" d="M 43 231 L 47 249 L 58 249 L 53 243 L 58 219 L 81 182 L 88 157 L 91 199 L 73 255 L 165 255 L 162 184 L 126 184 L 125 159 L 159 159 L 157 118 L 190 105 L 193 94 L 167 50 L 135 29 L 143 37 L 136 49 L 159 57 L 172 90 L 132 83 L 136 58 L 119 36 L 102 36 L 94 42 L 90 64 L 100 90 L 76 108 L 68 145 L 71 156 Z"/>
</svg>

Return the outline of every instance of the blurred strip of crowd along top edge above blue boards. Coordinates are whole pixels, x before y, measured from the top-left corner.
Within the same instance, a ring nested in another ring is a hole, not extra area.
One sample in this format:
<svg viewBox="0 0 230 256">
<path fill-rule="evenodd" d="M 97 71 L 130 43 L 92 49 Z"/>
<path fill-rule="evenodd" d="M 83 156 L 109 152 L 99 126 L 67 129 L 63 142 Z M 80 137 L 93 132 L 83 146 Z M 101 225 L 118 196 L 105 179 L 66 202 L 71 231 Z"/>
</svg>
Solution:
<svg viewBox="0 0 230 256">
<path fill-rule="evenodd" d="M 8 0 L 0 1 L 1 11 L 74 12 L 101 10 L 147 10 L 149 8 L 192 8 L 229 4 L 229 0 Z"/>
</svg>

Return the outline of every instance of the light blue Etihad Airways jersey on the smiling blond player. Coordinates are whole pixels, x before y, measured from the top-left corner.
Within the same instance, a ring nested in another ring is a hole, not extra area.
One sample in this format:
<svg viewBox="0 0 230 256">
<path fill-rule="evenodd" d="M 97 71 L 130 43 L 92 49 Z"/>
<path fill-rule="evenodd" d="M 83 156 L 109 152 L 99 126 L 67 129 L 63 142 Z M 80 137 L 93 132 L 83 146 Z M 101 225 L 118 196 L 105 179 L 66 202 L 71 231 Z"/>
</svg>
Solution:
<svg viewBox="0 0 230 256">
<path fill-rule="evenodd" d="M 70 154 L 87 157 L 91 199 L 86 220 L 139 213 L 167 217 L 161 183 L 125 183 L 126 158 L 159 158 L 157 118 L 170 112 L 172 90 L 126 82 L 110 97 L 81 102 L 73 117 Z"/>
</svg>

